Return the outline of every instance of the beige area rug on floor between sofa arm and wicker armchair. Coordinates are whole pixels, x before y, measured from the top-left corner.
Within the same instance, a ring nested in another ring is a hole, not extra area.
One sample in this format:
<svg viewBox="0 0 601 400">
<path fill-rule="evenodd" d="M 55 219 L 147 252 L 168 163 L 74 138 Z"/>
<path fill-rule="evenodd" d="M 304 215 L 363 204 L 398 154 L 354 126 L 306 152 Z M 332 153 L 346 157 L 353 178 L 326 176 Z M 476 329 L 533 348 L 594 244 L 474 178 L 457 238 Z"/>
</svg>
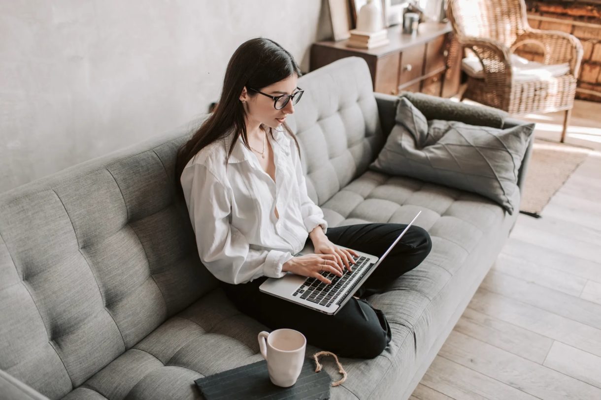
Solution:
<svg viewBox="0 0 601 400">
<path fill-rule="evenodd" d="M 545 139 L 534 139 L 532 147 L 520 213 L 540 217 L 545 205 L 592 149 Z"/>
</svg>

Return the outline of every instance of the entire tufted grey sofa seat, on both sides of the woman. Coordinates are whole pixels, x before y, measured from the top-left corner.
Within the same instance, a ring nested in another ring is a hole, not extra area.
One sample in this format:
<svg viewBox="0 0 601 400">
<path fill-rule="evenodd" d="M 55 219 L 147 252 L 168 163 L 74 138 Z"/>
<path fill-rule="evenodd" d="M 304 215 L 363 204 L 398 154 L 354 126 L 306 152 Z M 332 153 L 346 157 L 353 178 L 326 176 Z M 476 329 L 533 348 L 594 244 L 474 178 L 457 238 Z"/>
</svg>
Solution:
<svg viewBox="0 0 601 400">
<path fill-rule="evenodd" d="M 422 264 L 391 282 L 387 292 L 368 298 L 391 324 L 389 346 L 371 360 L 340 357 L 348 377 L 341 386 L 332 387 L 332 399 L 377 398 L 373 396 L 386 381 L 411 378 L 414 363 L 450 314 L 436 302 L 453 308 L 451 300 L 462 297 L 457 285 L 448 282 L 462 268 L 469 276 L 466 259 L 478 248 L 489 251 L 490 246 L 478 244 L 491 232 L 506 237 L 508 229 L 502 226 L 513 217 L 482 196 L 376 171 L 365 172 L 322 208 L 330 226 L 403 223 L 422 210 L 416 223 L 432 237 L 432 252 Z M 438 314 L 438 319 L 432 317 Z M 257 342 L 261 330 L 269 331 L 240 313 L 217 288 L 169 318 L 65 398 L 201 398 L 195 379 L 262 359 Z M 327 349 L 307 344 L 307 357 L 320 350 Z M 333 380 L 340 378 L 331 357 L 323 365 Z"/>
</svg>

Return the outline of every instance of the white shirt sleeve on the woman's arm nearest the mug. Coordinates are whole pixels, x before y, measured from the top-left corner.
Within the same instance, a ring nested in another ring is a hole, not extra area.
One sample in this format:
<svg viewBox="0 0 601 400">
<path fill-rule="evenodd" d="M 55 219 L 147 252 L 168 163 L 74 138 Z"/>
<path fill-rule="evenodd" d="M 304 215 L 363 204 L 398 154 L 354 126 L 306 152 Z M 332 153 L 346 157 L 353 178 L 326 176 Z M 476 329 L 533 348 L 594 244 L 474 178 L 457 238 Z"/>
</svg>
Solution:
<svg viewBox="0 0 601 400">
<path fill-rule="evenodd" d="M 202 164 L 182 174 L 182 188 L 198 247 L 207 269 L 227 283 L 245 283 L 260 276 L 282 277 L 290 252 L 251 249 L 248 240 L 229 222 L 227 187 Z"/>
</svg>

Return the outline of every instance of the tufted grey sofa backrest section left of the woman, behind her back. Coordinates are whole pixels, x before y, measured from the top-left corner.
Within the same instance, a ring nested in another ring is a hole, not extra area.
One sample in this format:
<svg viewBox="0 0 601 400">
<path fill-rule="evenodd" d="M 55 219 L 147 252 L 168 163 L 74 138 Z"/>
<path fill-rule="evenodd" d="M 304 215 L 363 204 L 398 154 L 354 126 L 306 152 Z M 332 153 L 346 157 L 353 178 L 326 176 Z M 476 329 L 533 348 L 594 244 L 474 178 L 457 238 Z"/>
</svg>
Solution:
<svg viewBox="0 0 601 400">
<path fill-rule="evenodd" d="M 0 369 L 60 397 L 218 286 L 172 178 L 194 125 L 0 195 Z"/>
</svg>

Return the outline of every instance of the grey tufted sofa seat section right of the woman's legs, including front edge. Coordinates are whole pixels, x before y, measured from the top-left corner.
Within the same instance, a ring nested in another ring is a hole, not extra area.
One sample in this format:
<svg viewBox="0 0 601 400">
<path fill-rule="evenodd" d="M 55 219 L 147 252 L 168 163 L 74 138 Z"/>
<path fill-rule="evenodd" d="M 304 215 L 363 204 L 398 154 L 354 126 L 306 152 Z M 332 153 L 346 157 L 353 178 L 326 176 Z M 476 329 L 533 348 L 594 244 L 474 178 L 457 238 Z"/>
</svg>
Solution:
<svg viewBox="0 0 601 400">
<path fill-rule="evenodd" d="M 519 202 L 519 192 L 514 196 Z M 432 238 L 432 251 L 418 267 L 392 281 L 382 294 L 368 297 L 386 315 L 392 341 L 367 365 L 386 359 L 389 371 L 368 374 L 362 382 L 348 379 L 344 386 L 356 398 L 382 398 L 390 387 L 406 387 L 433 343 L 448 334 L 448 320 L 465 308 L 461 303 L 471 298 L 466 293 L 475 291 L 489 270 L 517 213 L 510 215 L 475 193 L 371 170 L 322 208 L 330 226 L 407 223 L 421 210 L 415 224 Z M 355 368 L 354 363 L 346 368 L 349 377 L 359 372 Z M 376 382 L 370 383 L 370 376 Z"/>
</svg>

